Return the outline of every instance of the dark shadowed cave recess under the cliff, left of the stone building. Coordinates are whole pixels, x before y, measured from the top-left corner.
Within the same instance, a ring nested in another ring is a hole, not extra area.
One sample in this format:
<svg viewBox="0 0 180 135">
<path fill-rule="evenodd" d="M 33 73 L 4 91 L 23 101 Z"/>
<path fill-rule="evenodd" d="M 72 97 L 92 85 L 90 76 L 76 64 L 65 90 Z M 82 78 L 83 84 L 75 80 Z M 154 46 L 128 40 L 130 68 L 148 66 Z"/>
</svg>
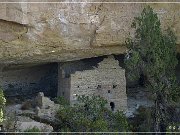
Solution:
<svg viewBox="0 0 180 135">
<path fill-rule="evenodd" d="M 48 63 L 2 70 L 0 85 L 8 99 L 32 98 L 39 92 L 43 92 L 48 97 L 56 97 L 58 90 L 57 67 L 57 63 Z"/>
</svg>

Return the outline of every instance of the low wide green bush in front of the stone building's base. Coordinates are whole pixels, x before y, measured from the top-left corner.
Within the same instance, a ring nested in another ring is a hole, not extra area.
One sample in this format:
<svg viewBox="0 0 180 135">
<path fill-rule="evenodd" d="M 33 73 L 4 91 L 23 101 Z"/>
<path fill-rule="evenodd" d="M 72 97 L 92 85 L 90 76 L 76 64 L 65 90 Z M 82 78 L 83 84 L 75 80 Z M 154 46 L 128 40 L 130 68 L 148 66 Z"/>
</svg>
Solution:
<svg viewBox="0 0 180 135">
<path fill-rule="evenodd" d="M 59 131 L 127 131 L 128 124 L 124 114 L 112 113 L 105 107 L 106 103 L 99 96 L 81 96 L 78 97 L 77 104 L 61 107 L 56 116 L 62 121 Z"/>
</svg>

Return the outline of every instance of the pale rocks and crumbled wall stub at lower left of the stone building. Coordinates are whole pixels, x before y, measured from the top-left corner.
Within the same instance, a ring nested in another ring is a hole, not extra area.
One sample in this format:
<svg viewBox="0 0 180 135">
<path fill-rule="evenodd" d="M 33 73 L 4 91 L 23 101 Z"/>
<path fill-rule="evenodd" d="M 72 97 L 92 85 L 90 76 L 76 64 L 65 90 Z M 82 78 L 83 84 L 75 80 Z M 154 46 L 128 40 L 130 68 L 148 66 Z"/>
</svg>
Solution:
<svg viewBox="0 0 180 135">
<path fill-rule="evenodd" d="M 3 128 L 5 131 L 14 132 L 36 127 L 43 132 L 52 132 L 51 125 L 57 122 L 55 115 L 59 107 L 59 104 L 55 104 L 45 97 L 43 92 L 39 92 L 32 100 L 6 106 Z"/>
</svg>

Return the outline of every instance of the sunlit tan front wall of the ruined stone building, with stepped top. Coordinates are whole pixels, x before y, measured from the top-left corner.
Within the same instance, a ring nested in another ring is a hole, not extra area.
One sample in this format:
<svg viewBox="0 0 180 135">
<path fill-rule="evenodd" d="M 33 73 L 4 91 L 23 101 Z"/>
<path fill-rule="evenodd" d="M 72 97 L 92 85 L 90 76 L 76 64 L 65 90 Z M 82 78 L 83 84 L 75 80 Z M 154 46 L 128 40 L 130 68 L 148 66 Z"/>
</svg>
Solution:
<svg viewBox="0 0 180 135">
<path fill-rule="evenodd" d="M 71 75 L 70 101 L 78 95 L 100 95 L 107 99 L 107 107 L 113 102 L 115 110 L 127 109 L 125 70 L 110 56 L 93 70 L 77 71 Z"/>
</svg>

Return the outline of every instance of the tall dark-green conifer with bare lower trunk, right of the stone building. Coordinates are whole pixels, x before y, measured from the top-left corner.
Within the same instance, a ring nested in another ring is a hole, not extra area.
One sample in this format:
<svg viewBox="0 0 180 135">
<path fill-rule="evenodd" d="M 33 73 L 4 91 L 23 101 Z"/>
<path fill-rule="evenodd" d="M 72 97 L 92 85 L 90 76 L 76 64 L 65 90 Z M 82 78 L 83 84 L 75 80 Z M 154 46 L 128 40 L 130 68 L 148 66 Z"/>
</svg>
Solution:
<svg viewBox="0 0 180 135">
<path fill-rule="evenodd" d="M 129 52 L 125 59 L 127 77 L 134 80 L 144 75 L 146 86 L 152 92 L 156 132 L 167 126 L 167 108 L 170 101 L 180 97 L 175 77 L 175 67 L 178 63 L 176 38 L 170 29 L 163 34 L 160 25 L 153 9 L 150 6 L 145 7 L 132 23 L 135 38 L 126 42 Z"/>
</svg>

